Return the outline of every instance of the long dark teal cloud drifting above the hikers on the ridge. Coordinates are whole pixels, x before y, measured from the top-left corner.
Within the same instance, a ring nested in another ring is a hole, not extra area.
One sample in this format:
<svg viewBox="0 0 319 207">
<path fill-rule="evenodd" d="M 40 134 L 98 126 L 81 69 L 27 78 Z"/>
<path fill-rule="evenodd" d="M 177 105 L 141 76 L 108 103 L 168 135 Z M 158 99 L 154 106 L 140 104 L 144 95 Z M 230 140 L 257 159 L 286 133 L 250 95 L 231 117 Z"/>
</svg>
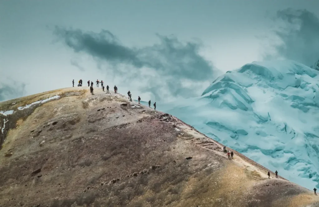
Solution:
<svg viewBox="0 0 319 207">
<path fill-rule="evenodd" d="M 156 34 L 159 43 L 130 48 L 107 30 L 95 33 L 56 26 L 54 34 L 74 52 L 91 55 L 100 69 L 122 76 L 121 82 L 138 80 L 137 87 L 157 99 L 199 95 L 216 78 L 212 63 L 199 54 L 203 45 L 198 41 L 183 43 L 175 36 Z M 103 67 L 101 61 L 112 67 Z"/>
</svg>

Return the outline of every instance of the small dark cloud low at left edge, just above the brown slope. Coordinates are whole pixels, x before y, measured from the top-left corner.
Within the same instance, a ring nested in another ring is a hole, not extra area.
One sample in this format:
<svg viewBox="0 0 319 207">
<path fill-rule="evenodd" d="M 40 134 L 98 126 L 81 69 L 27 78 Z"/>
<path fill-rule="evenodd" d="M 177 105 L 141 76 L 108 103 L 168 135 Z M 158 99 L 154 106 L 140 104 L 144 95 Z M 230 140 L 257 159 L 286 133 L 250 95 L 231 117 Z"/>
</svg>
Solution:
<svg viewBox="0 0 319 207">
<path fill-rule="evenodd" d="M 25 84 L 13 82 L 13 86 L 8 84 L 0 85 L 0 101 L 15 99 L 25 94 Z"/>
</svg>

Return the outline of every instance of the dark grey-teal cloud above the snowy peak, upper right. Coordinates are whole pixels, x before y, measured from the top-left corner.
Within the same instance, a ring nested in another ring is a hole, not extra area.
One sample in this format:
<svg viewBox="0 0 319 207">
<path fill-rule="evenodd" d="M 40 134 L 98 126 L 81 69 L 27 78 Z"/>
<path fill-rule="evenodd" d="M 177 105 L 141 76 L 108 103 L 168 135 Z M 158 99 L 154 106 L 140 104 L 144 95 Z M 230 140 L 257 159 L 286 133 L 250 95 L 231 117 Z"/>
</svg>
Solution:
<svg viewBox="0 0 319 207">
<path fill-rule="evenodd" d="M 319 59 L 319 20 L 308 10 L 285 9 L 277 12 L 284 26 L 275 31 L 281 40 L 276 52 L 286 58 L 313 66 Z"/>
</svg>

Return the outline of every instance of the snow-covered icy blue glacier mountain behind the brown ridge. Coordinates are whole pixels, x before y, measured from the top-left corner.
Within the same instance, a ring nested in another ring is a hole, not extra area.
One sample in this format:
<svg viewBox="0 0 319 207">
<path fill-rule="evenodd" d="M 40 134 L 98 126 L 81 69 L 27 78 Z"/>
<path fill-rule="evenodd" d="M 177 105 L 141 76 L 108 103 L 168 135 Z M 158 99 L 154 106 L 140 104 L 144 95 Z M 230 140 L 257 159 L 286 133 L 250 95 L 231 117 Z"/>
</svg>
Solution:
<svg viewBox="0 0 319 207">
<path fill-rule="evenodd" d="M 294 183 L 319 187 L 319 71 L 255 61 L 221 75 L 200 97 L 157 109 Z"/>
</svg>

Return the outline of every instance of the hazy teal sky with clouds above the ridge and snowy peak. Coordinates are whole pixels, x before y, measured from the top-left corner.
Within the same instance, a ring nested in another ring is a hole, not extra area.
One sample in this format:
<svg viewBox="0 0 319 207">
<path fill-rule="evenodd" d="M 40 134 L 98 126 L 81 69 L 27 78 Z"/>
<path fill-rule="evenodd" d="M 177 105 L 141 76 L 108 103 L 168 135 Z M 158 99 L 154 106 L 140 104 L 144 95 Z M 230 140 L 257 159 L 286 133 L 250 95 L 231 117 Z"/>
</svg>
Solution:
<svg viewBox="0 0 319 207">
<path fill-rule="evenodd" d="M 0 101 L 72 79 L 174 100 L 200 96 L 256 60 L 312 66 L 317 8 L 310 0 L 0 0 Z"/>
</svg>

